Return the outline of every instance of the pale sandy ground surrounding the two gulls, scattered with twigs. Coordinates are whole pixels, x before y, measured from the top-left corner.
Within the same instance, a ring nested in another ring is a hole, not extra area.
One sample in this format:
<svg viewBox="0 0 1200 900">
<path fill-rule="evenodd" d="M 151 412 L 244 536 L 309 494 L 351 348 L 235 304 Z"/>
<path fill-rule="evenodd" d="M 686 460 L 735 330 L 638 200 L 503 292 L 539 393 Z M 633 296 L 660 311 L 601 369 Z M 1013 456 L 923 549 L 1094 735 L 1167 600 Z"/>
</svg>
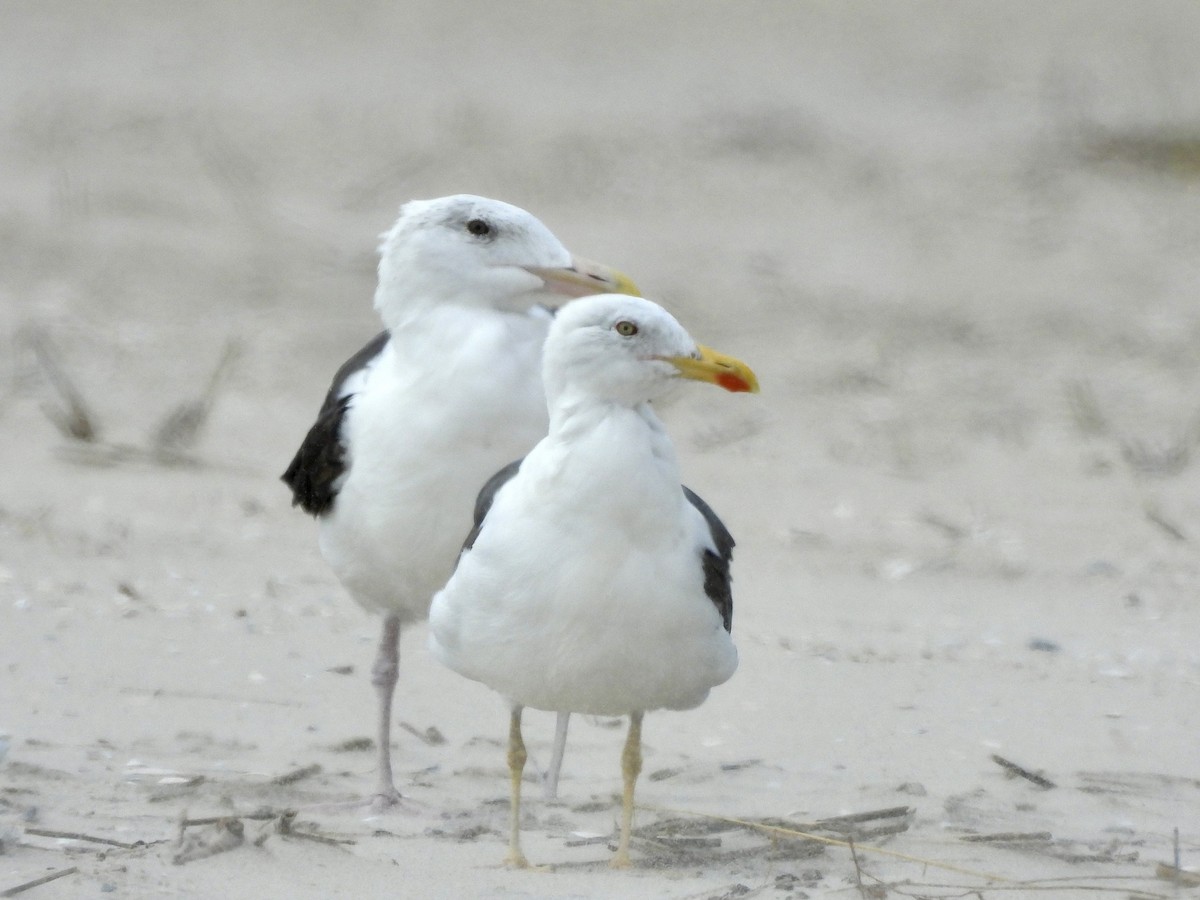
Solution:
<svg viewBox="0 0 1200 900">
<path fill-rule="evenodd" d="M 1200 865 L 1200 6 L 250 6 L 0 5 L 0 892 L 1198 894 L 1156 866 Z M 377 233 L 461 191 L 762 380 L 670 410 L 742 667 L 648 716 L 631 871 L 584 719 L 552 871 L 500 865 L 505 712 L 424 628 L 410 808 L 334 805 L 377 623 L 277 479 Z"/>
</svg>

